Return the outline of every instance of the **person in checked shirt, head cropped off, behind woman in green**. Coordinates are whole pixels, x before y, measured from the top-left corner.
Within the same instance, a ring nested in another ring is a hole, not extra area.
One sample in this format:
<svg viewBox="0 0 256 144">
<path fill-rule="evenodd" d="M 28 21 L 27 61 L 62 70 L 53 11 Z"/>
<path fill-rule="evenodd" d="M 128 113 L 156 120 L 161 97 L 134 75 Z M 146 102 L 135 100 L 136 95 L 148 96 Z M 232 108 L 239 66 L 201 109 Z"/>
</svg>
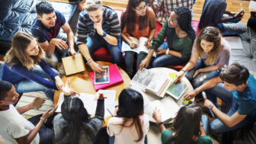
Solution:
<svg viewBox="0 0 256 144">
<path fill-rule="evenodd" d="M 177 7 L 185 7 L 190 9 L 193 18 L 192 8 L 196 2 L 197 0 L 155 0 L 154 6 L 157 15 L 156 21 L 158 21 L 160 24 L 164 24 L 165 21 L 171 16 L 171 11 Z"/>
</svg>

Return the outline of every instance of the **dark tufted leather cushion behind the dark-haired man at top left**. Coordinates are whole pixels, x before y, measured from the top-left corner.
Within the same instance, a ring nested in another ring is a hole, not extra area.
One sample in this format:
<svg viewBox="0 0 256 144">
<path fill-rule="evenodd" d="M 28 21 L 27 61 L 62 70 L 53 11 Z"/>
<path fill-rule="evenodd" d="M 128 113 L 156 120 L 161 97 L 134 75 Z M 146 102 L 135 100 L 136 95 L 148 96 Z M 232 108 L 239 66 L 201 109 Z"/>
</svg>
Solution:
<svg viewBox="0 0 256 144">
<path fill-rule="evenodd" d="M 37 17 L 38 0 L 1 0 L 0 1 L 0 53 L 5 54 L 11 47 L 11 38 L 17 31 L 27 31 Z M 53 8 L 62 12 L 66 21 L 70 21 L 77 5 L 62 2 L 50 2 Z M 77 23 L 77 21 L 76 21 Z M 73 30 L 74 31 L 74 30 Z"/>
</svg>

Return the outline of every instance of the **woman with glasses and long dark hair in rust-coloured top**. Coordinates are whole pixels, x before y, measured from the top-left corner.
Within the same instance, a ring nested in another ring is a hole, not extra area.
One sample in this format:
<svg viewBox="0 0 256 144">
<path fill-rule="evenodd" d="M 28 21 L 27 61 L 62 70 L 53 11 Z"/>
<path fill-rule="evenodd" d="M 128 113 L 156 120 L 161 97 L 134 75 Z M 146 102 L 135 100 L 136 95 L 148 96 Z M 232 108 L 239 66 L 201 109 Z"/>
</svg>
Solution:
<svg viewBox="0 0 256 144">
<path fill-rule="evenodd" d="M 123 40 L 130 45 L 132 49 L 139 45 L 129 37 L 139 39 L 139 37 L 147 37 L 145 46 L 149 49 L 151 41 L 155 35 L 155 13 L 152 8 L 148 7 L 145 0 L 130 0 L 127 7 L 123 10 L 121 15 L 121 36 Z M 126 64 L 126 72 L 133 77 L 133 59 L 135 52 L 126 51 L 124 62 Z M 137 69 L 139 69 L 139 62 L 144 59 L 142 54 L 137 54 Z"/>
</svg>

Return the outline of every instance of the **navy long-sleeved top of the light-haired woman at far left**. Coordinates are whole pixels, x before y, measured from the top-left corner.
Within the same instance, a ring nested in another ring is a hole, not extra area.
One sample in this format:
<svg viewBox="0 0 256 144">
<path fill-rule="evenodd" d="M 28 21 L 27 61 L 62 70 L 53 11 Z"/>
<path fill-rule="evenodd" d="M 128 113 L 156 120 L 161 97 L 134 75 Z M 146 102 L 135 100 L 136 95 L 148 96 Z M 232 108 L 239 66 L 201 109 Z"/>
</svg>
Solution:
<svg viewBox="0 0 256 144">
<path fill-rule="evenodd" d="M 38 64 L 43 69 L 43 71 L 50 75 L 52 78 L 57 76 L 57 74 L 53 72 L 53 69 L 51 69 L 50 66 L 48 66 L 43 59 L 41 59 L 41 62 L 39 62 Z M 55 83 L 47 81 L 46 79 L 41 78 L 33 72 L 30 72 L 26 67 L 22 66 L 20 63 L 11 66 L 11 69 L 9 69 L 7 63 L 5 63 L 2 73 L 3 81 L 11 82 L 12 85 L 16 85 L 19 82 L 21 82 L 21 77 L 37 82 L 38 84 L 43 85 L 46 88 L 58 90 Z M 30 86 L 33 87 L 33 85 Z"/>
</svg>

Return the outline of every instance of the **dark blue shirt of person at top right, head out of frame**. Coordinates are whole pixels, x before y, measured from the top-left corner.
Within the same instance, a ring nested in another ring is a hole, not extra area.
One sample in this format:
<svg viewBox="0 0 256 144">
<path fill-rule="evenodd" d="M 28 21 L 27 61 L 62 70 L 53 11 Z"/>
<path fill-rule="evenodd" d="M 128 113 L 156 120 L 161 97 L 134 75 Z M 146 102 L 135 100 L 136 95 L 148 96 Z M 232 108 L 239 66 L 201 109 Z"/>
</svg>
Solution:
<svg viewBox="0 0 256 144">
<path fill-rule="evenodd" d="M 221 21 L 224 12 L 226 11 L 225 0 L 206 0 L 203 4 L 203 11 L 200 18 L 198 28 L 202 30 L 204 27 L 212 26 L 219 28 L 220 32 L 223 33 L 223 24 L 214 24 Z"/>
</svg>

